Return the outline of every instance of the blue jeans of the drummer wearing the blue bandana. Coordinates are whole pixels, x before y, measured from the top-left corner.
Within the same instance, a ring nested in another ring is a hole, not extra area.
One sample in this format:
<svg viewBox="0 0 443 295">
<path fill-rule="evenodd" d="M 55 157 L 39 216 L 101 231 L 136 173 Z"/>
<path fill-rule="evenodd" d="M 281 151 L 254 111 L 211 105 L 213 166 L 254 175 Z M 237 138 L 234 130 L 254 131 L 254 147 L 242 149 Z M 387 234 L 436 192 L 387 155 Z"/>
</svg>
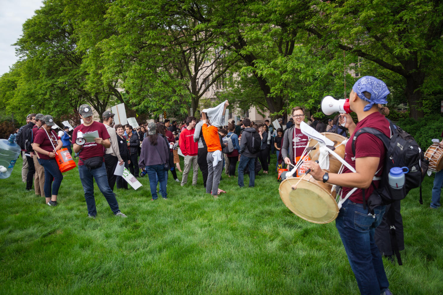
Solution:
<svg viewBox="0 0 443 295">
<path fill-rule="evenodd" d="M 374 241 L 375 228 L 383 218 L 385 206 L 375 208 L 374 212 L 375 218 L 368 215 L 368 209 L 363 209 L 363 204 L 348 199 L 335 219 L 362 295 L 379 295 L 389 287 L 381 254 Z"/>
</svg>

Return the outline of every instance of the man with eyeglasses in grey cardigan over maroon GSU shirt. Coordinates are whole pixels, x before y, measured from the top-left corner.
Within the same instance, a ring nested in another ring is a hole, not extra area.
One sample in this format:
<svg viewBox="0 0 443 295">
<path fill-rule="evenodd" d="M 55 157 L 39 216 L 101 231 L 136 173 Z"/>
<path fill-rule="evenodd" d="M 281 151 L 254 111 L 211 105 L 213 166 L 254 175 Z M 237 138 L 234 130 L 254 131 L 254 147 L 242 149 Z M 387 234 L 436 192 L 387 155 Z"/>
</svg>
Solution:
<svg viewBox="0 0 443 295">
<path fill-rule="evenodd" d="M 284 163 L 287 165 L 295 165 L 300 161 L 300 157 L 309 141 L 309 138 L 300 130 L 300 123 L 302 123 L 304 119 L 303 107 L 293 107 L 291 115 L 294 120 L 294 126 L 284 133 L 283 146 L 281 148 L 281 155 Z"/>
</svg>

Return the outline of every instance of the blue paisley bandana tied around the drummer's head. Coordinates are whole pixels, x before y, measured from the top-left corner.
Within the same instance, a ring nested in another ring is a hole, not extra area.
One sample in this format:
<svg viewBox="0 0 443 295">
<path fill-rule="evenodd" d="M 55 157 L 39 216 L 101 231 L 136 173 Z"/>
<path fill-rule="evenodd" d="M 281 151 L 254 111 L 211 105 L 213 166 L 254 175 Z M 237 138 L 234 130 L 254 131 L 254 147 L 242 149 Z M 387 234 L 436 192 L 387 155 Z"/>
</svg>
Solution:
<svg viewBox="0 0 443 295">
<path fill-rule="evenodd" d="M 354 90 L 354 92 L 357 93 L 357 96 L 362 100 L 369 102 L 363 111 L 369 111 L 375 103 L 388 103 L 386 100 L 386 96 L 390 93 L 388 87 L 386 86 L 385 82 L 378 80 L 376 77 L 361 77 L 357 82 L 355 82 L 354 86 L 352 86 L 352 90 Z M 371 94 L 371 98 L 369 100 L 363 94 L 364 91 Z"/>
</svg>

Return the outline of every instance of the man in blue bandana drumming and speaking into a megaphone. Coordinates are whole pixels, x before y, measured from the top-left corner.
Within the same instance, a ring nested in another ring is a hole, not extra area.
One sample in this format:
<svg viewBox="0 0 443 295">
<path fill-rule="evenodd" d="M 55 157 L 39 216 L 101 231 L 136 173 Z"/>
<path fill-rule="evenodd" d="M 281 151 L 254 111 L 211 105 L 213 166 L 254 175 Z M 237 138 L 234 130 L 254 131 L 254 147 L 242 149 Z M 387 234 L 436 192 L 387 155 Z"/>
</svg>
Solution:
<svg viewBox="0 0 443 295">
<path fill-rule="evenodd" d="M 375 77 L 365 76 L 354 84 L 349 103 L 351 110 L 357 114 L 358 123 L 355 124 L 348 114 L 341 114 L 340 118 L 340 123 L 343 123 L 343 117 L 346 118 L 345 127 L 349 129 L 350 138 L 354 138 L 354 134 L 363 127 L 375 128 L 390 137 L 389 122 L 378 111 L 378 103 L 387 103 L 388 94 L 385 82 Z M 342 203 L 335 226 L 342 238 L 360 293 L 391 295 L 381 254 L 374 241 L 375 228 L 382 220 L 385 206 L 374 208 L 374 215 L 371 215 L 363 205 L 363 191 L 367 198 L 372 194 L 374 186 L 378 188 L 379 181 L 373 178 L 381 176 L 383 172 L 385 146 L 375 135 L 363 133 L 355 140 L 355 155 L 352 140 L 346 143 L 345 152 L 345 161 L 356 172 L 345 167 L 341 174 L 325 173 L 313 161 L 307 161 L 304 166 L 311 169 L 310 174 L 316 180 L 341 186 L 342 198 L 348 197 Z"/>
</svg>

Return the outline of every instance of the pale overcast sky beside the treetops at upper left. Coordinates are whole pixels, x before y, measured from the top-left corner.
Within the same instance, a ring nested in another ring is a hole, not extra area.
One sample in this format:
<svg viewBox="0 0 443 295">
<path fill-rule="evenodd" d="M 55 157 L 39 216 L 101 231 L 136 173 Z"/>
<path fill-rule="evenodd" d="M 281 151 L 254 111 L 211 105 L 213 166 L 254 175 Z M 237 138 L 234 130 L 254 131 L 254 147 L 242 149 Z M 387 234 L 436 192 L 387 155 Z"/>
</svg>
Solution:
<svg viewBox="0 0 443 295">
<path fill-rule="evenodd" d="M 14 44 L 22 34 L 23 23 L 42 6 L 42 0 L 0 0 L 0 76 L 16 61 Z"/>
</svg>

